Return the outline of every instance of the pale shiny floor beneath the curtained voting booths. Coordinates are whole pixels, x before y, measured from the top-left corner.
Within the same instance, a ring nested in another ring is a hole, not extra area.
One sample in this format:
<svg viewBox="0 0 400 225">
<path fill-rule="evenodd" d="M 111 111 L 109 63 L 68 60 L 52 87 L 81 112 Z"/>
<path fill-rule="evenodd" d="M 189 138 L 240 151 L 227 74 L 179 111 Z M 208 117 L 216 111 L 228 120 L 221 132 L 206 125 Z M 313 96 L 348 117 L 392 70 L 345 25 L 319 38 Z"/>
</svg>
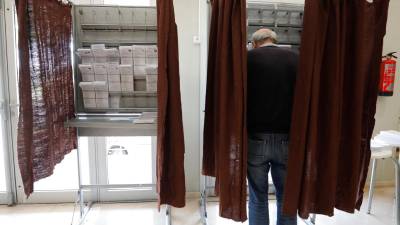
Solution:
<svg viewBox="0 0 400 225">
<path fill-rule="evenodd" d="M 372 215 L 366 214 L 366 201 L 361 212 L 337 212 L 332 218 L 318 216 L 317 225 L 393 225 L 394 189 L 375 192 Z M 72 204 L 0 206 L 1 225 L 70 225 Z M 271 201 L 271 224 L 275 224 L 275 205 Z M 164 210 L 157 211 L 156 203 L 96 204 L 86 218 L 85 225 L 165 225 Z M 78 210 L 75 213 L 77 222 Z M 208 203 L 209 225 L 239 224 L 218 217 L 218 203 Z M 200 225 L 198 200 L 190 199 L 183 209 L 172 210 L 173 225 Z M 247 224 L 247 223 L 244 223 Z M 299 220 L 299 224 L 302 224 Z"/>
</svg>

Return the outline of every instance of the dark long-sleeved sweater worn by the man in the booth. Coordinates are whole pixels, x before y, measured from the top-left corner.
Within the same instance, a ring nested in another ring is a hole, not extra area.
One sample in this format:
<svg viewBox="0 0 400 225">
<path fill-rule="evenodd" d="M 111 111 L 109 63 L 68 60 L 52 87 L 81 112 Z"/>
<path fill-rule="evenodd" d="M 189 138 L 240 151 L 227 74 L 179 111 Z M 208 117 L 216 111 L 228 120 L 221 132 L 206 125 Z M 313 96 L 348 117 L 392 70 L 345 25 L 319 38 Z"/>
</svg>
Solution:
<svg viewBox="0 0 400 225">
<path fill-rule="evenodd" d="M 277 46 L 248 52 L 247 127 L 250 133 L 289 133 L 298 54 Z"/>
</svg>

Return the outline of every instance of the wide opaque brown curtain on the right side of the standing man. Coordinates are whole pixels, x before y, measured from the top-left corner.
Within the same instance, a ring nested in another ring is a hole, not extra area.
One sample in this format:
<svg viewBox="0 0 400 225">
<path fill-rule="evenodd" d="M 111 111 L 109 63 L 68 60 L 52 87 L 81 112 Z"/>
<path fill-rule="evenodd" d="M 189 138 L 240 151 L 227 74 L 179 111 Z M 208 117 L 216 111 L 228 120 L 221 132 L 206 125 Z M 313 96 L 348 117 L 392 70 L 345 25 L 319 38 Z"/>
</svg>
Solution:
<svg viewBox="0 0 400 225">
<path fill-rule="evenodd" d="M 306 0 L 284 213 L 362 203 L 389 0 Z"/>
</svg>

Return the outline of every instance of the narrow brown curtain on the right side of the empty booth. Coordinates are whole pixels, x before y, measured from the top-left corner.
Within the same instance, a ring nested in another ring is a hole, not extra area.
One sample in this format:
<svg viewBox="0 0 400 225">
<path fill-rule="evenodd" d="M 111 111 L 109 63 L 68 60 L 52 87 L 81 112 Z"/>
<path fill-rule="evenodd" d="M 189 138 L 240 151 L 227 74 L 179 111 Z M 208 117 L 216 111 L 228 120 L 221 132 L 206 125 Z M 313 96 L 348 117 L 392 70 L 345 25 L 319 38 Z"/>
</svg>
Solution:
<svg viewBox="0 0 400 225">
<path fill-rule="evenodd" d="M 178 33 L 172 0 L 157 0 L 158 203 L 185 206 L 184 137 L 179 84 Z"/>
</svg>

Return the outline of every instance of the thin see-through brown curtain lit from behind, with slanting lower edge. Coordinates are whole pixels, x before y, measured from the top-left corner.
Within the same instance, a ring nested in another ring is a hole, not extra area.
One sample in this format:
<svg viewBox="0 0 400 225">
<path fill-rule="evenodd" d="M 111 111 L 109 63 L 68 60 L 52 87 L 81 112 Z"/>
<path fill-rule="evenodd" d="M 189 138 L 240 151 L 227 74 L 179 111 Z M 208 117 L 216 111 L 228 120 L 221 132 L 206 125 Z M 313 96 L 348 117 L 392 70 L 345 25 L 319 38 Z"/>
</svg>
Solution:
<svg viewBox="0 0 400 225">
<path fill-rule="evenodd" d="M 76 147 L 71 67 L 71 7 L 57 0 L 18 0 L 18 162 L 25 193 L 50 176 Z"/>
</svg>

